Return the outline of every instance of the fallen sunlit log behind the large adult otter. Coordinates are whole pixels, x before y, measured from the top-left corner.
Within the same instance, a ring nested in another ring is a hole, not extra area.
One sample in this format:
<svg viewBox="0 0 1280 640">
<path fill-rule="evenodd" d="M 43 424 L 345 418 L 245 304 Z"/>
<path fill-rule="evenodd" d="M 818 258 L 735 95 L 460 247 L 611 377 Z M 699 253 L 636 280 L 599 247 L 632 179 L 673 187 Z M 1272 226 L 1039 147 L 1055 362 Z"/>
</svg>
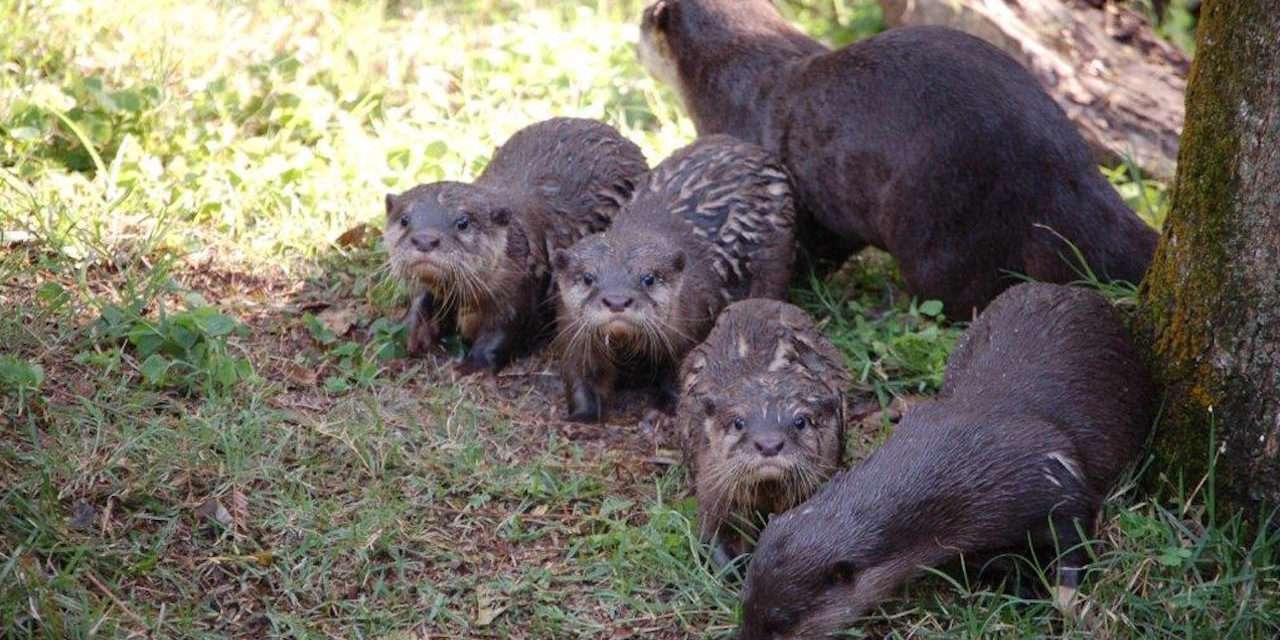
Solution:
<svg viewBox="0 0 1280 640">
<path fill-rule="evenodd" d="M 884 22 L 937 24 L 978 36 L 1027 67 L 1094 157 L 1130 157 L 1174 177 L 1187 56 L 1149 20 L 1091 0 L 879 0 Z"/>
</svg>

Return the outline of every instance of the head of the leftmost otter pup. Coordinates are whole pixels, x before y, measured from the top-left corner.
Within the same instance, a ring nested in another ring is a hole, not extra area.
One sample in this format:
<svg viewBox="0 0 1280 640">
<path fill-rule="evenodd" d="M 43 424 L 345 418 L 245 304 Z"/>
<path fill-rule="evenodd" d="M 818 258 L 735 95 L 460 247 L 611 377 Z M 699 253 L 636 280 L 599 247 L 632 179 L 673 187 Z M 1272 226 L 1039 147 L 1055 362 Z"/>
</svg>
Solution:
<svg viewBox="0 0 1280 640">
<path fill-rule="evenodd" d="M 383 239 L 392 273 L 467 306 L 492 297 L 512 218 L 497 201 L 481 187 L 457 182 L 388 193 Z"/>
</svg>

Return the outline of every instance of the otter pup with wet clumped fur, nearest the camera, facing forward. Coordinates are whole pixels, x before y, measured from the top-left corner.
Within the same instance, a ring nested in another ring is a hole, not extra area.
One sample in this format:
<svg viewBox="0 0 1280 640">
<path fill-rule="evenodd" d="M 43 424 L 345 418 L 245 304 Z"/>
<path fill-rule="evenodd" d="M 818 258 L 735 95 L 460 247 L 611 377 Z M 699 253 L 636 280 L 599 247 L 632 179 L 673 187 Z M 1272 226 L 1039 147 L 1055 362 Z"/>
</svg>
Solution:
<svg viewBox="0 0 1280 640">
<path fill-rule="evenodd" d="M 771 513 L 804 502 L 841 465 L 844 356 L 808 314 L 746 300 L 721 312 L 681 369 L 685 465 L 699 530 L 724 566 Z"/>
</svg>

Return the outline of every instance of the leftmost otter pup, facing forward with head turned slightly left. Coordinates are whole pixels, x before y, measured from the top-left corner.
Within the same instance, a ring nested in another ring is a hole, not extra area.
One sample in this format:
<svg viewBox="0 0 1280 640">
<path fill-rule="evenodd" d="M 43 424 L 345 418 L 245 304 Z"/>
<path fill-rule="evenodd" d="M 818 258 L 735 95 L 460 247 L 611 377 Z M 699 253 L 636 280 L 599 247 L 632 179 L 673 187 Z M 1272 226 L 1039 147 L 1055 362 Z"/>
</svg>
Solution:
<svg viewBox="0 0 1280 640">
<path fill-rule="evenodd" d="M 550 252 L 608 228 L 648 170 L 613 127 L 579 118 L 531 124 L 498 147 L 472 183 L 387 195 L 390 270 L 417 292 L 408 351 L 454 329 L 465 372 L 502 369 L 550 321 Z"/>
</svg>

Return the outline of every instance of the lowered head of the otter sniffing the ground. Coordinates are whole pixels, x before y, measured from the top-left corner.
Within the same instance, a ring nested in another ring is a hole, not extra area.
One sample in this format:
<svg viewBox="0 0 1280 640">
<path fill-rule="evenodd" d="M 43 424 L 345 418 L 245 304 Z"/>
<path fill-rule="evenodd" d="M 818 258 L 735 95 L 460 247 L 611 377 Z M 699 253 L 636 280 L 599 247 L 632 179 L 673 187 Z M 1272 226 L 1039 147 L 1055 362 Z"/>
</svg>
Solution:
<svg viewBox="0 0 1280 640">
<path fill-rule="evenodd" d="M 892 534 L 841 509 L 836 493 L 824 490 L 764 529 L 742 586 L 739 640 L 809 640 L 849 630 L 914 571 L 910 554 L 877 544 Z"/>
</svg>

